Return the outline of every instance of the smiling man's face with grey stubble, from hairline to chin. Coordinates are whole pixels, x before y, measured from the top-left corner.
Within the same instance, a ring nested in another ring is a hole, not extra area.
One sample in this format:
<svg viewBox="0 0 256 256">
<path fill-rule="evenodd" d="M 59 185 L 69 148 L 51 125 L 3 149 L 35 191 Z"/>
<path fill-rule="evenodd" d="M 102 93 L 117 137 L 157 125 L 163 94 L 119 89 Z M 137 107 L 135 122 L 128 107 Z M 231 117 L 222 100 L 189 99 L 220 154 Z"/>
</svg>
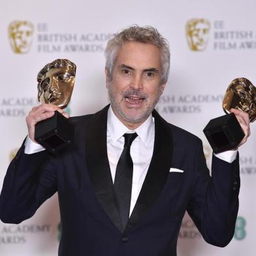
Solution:
<svg viewBox="0 0 256 256">
<path fill-rule="evenodd" d="M 125 42 L 114 63 L 112 76 L 106 71 L 106 87 L 114 114 L 135 129 L 152 113 L 163 93 L 161 54 L 157 46 Z"/>
</svg>

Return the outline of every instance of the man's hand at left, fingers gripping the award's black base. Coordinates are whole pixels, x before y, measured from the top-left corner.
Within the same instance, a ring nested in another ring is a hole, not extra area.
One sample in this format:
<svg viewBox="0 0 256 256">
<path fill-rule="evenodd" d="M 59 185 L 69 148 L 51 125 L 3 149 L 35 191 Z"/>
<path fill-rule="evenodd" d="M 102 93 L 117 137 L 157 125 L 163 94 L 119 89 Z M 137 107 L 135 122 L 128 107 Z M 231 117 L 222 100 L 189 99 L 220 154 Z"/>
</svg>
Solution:
<svg viewBox="0 0 256 256">
<path fill-rule="evenodd" d="M 69 114 L 67 114 L 63 109 L 53 105 L 53 104 L 40 104 L 39 106 L 34 106 L 32 110 L 29 112 L 26 117 L 27 121 L 27 130 L 29 133 L 29 138 L 35 141 L 35 125 L 39 121 L 45 120 L 47 118 L 51 118 L 54 116 L 54 111 L 58 111 L 63 114 L 66 118 L 69 118 Z"/>
</svg>

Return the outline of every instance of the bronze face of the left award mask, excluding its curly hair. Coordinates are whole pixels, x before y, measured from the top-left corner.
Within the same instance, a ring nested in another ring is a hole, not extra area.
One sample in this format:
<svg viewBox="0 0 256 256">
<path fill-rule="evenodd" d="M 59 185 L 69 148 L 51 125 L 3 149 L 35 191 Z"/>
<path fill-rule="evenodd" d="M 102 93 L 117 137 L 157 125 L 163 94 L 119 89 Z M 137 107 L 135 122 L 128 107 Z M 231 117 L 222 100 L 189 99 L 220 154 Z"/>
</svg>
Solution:
<svg viewBox="0 0 256 256">
<path fill-rule="evenodd" d="M 40 83 L 39 101 L 65 108 L 71 99 L 73 87 L 74 76 L 69 67 L 50 69 Z"/>
</svg>

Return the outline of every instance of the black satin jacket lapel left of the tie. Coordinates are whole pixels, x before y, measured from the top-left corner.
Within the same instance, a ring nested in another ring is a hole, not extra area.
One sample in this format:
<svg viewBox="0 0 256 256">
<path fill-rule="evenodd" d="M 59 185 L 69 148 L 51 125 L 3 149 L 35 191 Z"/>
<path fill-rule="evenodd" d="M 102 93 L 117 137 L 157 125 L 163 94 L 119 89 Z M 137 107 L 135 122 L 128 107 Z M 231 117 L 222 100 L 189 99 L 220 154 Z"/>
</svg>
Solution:
<svg viewBox="0 0 256 256">
<path fill-rule="evenodd" d="M 116 206 L 106 149 L 106 121 L 108 107 L 94 114 L 86 129 L 86 161 L 95 195 L 104 212 L 122 232 L 120 215 Z"/>
</svg>

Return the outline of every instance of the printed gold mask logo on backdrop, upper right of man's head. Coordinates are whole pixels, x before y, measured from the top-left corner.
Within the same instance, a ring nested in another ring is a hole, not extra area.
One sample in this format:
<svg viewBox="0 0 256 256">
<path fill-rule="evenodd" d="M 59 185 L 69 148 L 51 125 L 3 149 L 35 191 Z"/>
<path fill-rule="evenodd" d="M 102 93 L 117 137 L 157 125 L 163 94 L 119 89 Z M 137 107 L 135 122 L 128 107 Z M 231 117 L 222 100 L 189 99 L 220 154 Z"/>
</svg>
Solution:
<svg viewBox="0 0 256 256">
<path fill-rule="evenodd" d="M 210 32 L 208 20 L 191 19 L 185 25 L 185 31 L 189 48 L 192 51 L 201 52 L 206 49 Z"/>
</svg>

